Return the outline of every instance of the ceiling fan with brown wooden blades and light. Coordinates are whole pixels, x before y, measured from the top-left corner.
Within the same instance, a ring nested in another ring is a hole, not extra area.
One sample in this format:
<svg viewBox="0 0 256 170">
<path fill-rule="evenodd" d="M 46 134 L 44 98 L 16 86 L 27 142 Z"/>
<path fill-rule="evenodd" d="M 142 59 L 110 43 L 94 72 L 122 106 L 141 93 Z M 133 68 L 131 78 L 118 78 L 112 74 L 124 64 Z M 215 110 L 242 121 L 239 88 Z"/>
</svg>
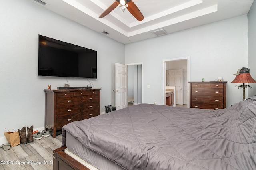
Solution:
<svg viewBox="0 0 256 170">
<path fill-rule="evenodd" d="M 132 0 L 115 0 L 115 2 L 110 5 L 100 16 L 103 18 L 108 15 L 112 10 L 114 10 L 120 4 L 121 10 L 124 12 L 125 8 L 139 21 L 144 19 L 144 16 L 140 12 L 139 8 L 132 2 Z"/>
</svg>

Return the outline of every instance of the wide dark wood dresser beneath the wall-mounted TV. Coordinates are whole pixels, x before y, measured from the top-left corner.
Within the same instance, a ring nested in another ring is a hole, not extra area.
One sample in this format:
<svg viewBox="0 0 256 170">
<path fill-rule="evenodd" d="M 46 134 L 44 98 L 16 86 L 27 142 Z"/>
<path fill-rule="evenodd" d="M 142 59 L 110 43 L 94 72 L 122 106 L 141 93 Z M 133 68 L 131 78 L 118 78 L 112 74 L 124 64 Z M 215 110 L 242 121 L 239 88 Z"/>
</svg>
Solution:
<svg viewBox="0 0 256 170">
<path fill-rule="evenodd" d="M 45 92 L 45 128 L 56 130 L 73 122 L 100 115 L 101 89 L 62 89 L 44 90 Z"/>
</svg>

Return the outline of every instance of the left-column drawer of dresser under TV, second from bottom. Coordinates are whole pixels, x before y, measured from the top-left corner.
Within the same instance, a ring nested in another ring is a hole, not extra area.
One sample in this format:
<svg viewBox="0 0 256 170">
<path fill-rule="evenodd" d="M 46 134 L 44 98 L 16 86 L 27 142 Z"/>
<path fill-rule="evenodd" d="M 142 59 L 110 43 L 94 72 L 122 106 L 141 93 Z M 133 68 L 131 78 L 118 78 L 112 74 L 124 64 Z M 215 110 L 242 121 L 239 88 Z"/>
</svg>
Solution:
<svg viewBox="0 0 256 170">
<path fill-rule="evenodd" d="M 80 113 L 81 105 L 72 105 L 72 106 L 65 106 L 65 107 L 57 107 L 56 108 L 56 116 L 62 117 L 67 115 L 74 115 Z"/>
</svg>

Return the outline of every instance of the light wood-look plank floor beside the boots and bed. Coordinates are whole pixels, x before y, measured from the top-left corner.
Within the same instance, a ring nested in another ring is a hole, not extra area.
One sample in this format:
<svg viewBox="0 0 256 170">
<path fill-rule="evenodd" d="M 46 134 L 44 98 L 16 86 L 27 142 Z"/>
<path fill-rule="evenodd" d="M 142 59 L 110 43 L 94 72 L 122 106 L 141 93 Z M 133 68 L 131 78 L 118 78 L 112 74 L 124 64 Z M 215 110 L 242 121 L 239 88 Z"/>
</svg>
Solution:
<svg viewBox="0 0 256 170">
<path fill-rule="evenodd" d="M 61 135 L 43 137 L 10 150 L 0 148 L 0 170 L 52 170 L 53 150 L 61 146 Z"/>
</svg>

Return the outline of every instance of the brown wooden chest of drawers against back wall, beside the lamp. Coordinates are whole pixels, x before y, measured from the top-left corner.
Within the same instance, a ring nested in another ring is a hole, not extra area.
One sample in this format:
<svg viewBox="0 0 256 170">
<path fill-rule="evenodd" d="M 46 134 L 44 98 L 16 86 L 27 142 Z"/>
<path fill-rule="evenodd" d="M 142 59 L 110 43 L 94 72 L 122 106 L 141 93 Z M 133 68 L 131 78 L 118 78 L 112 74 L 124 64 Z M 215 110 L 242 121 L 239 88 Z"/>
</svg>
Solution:
<svg viewBox="0 0 256 170">
<path fill-rule="evenodd" d="M 226 108 L 226 81 L 189 83 L 190 107 L 200 109 Z"/>
</svg>

